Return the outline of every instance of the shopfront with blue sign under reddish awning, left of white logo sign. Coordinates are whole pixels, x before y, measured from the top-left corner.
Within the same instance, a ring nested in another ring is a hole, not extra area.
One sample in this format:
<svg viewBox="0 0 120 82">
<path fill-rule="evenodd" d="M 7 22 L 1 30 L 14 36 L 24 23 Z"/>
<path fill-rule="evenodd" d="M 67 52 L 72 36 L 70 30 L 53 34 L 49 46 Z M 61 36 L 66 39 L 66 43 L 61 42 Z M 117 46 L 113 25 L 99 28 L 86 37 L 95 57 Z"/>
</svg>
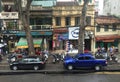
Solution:
<svg viewBox="0 0 120 82">
<path fill-rule="evenodd" d="M 53 30 L 53 50 L 64 50 L 66 48 L 66 41 L 68 40 L 67 28 L 55 28 Z"/>
</svg>

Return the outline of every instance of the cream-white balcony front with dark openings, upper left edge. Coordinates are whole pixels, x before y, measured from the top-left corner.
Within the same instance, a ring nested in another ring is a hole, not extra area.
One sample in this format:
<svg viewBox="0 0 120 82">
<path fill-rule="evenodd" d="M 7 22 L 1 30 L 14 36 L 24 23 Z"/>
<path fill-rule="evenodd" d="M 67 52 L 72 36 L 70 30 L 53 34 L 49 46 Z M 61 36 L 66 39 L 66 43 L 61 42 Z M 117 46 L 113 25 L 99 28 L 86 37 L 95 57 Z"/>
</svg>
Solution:
<svg viewBox="0 0 120 82">
<path fill-rule="evenodd" d="M 18 12 L 1 12 L 0 19 L 18 19 Z"/>
</svg>

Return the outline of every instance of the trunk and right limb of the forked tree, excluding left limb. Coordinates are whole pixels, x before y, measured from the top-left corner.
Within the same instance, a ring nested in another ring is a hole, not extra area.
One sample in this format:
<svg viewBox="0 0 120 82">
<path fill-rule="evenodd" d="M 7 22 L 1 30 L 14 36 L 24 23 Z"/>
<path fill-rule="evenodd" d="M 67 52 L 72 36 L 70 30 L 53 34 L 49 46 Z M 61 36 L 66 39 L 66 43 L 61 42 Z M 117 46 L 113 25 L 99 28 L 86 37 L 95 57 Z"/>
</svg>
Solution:
<svg viewBox="0 0 120 82">
<path fill-rule="evenodd" d="M 30 26 L 29 26 L 31 2 L 32 2 L 32 0 L 27 0 L 26 9 L 23 14 L 23 22 L 24 22 L 24 29 L 25 29 L 25 33 L 26 33 L 27 42 L 28 42 L 29 55 L 35 55 L 33 38 L 31 35 Z"/>
</svg>

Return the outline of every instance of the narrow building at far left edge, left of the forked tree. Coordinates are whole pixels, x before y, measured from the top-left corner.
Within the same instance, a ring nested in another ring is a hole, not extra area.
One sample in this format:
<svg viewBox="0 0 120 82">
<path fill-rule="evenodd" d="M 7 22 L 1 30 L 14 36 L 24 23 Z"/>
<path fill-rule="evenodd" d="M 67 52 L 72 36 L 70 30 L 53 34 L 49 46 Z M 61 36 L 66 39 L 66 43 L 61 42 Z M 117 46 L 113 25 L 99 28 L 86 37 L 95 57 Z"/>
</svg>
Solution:
<svg viewBox="0 0 120 82">
<path fill-rule="evenodd" d="M 15 9 L 14 0 L 1 0 L 1 44 L 4 46 L 2 50 L 4 53 L 8 53 L 15 48 L 15 42 L 17 40 L 16 32 L 18 32 L 18 12 Z"/>
</svg>

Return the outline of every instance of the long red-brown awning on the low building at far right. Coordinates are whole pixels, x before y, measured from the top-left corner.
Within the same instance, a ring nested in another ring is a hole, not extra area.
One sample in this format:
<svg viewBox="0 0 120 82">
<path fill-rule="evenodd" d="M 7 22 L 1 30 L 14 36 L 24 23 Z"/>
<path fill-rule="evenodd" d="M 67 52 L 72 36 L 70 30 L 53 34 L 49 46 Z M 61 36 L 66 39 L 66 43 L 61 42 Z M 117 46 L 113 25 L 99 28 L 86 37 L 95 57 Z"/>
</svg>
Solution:
<svg viewBox="0 0 120 82">
<path fill-rule="evenodd" d="M 111 42 L 115 39 L 120 39 L 120 35 L 101 35 L 95 37 L 96 41 Z"/>
</svg>

